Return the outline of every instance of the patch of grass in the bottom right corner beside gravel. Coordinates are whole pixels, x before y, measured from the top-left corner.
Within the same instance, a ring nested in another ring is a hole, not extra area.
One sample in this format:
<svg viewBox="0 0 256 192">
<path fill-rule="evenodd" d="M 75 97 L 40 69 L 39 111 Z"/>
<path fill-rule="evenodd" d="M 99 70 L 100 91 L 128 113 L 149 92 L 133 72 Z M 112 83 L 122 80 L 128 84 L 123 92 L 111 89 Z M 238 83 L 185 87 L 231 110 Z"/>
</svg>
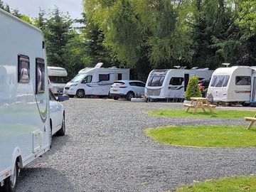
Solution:
<svg viewBox="0 0 256 192">
<path fill-rule="evenodd" d="M 239 192 L 256 191 L 256 176 L 240 176 L 220 178 L 212 181 L 193 183 L 176 188 L 176 192 Z"/>
</svg>

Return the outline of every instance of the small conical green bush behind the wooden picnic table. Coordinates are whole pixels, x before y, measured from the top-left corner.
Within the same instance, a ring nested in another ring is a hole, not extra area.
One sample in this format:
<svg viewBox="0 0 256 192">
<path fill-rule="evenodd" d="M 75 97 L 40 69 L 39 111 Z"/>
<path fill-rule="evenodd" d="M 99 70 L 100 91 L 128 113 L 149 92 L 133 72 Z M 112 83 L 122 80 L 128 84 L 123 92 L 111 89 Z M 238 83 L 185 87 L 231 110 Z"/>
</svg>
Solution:
<svg viewBox="0 0 256 192">
<path fill-rule="evenodd" d="M 196 76 L 189 79 L 185 92 L 185 100 L 191 100 L 191 97 L 202 97 L 202 93 L 198 86 L 198 77 Z"/>
</svg>

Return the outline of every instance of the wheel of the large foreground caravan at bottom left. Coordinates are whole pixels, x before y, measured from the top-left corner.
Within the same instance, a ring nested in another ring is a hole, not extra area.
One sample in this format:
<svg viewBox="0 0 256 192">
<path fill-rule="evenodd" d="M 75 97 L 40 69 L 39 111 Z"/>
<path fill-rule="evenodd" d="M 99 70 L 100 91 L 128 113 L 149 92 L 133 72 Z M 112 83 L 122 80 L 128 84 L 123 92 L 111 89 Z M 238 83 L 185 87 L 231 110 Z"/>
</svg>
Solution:
<svg viewBox="0 0 256 192">
<path fill-rule="evenodd" d="M 14 166 L 14 174 L 9 176 L 4 180 L 4 186 L 0 187 L 0 191 L 8 191 L 8 192 L 15 192 L 17 188 L 17 181 L 18 181 L 18 161 L 16 161 Z"/>
</svg>

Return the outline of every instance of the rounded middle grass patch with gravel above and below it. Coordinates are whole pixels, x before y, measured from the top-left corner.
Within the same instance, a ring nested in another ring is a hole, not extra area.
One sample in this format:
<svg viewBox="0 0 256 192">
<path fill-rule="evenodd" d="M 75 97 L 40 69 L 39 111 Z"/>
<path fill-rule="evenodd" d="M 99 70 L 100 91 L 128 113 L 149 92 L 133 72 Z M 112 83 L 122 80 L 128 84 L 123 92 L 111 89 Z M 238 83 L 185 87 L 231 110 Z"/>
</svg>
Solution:
<svg viewBox="0 0 256 192">
<path fill-rule="evenodd" d="M 178 126 L 146 129 L 161 144 L 198 147 L 256 147 L 256 129 L 247 126 Z"/>
</svg>

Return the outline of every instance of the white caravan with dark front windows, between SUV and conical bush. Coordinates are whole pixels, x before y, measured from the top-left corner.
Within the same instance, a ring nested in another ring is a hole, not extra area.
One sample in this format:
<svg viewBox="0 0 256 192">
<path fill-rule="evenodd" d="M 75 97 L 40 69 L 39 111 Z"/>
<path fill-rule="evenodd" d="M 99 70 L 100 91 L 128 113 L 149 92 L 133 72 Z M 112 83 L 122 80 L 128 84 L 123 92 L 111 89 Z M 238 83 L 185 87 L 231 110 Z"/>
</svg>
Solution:
<svg viewBox="0 0 256 192">
<path fill-rule="evenodd" d="M 147 99 L 184 98 L 188 80 L 197 76 L 199 80 L 209 80 L 213 70 L 202 69 L 161 69 L 152 70 L 146 80 Z"/>
</svg>

